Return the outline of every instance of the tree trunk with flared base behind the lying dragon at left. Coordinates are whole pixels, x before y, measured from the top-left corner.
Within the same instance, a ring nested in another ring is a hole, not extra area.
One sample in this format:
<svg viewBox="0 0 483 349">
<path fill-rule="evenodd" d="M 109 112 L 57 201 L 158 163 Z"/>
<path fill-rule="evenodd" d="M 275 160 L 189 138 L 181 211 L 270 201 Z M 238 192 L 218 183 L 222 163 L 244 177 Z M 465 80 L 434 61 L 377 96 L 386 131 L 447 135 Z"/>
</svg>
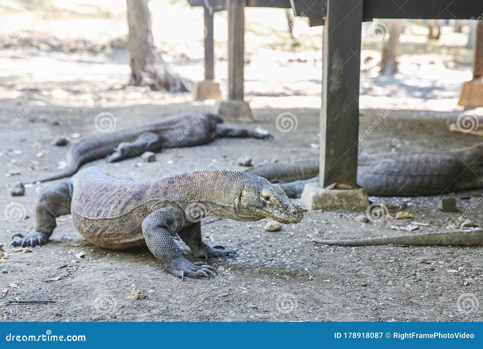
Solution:
<svg viewBox="0 0 483 349">
<path fill-rule="evenodd" d="M 129 85 L 149 86 L 154 91 L 190 92 L 190 82 L 172 74 L 156 51 L 147 0 L 127 0 L 127 4 L 131 56 Z"/>
</svg>

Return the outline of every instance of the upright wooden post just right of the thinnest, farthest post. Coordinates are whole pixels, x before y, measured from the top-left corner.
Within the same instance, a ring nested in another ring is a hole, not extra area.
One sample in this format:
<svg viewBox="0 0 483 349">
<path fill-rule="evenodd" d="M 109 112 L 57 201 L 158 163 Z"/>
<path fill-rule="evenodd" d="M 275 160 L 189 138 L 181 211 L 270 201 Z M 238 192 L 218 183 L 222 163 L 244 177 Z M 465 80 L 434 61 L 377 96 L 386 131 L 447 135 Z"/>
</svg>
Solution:
<svg viewBox="0 0 483 349">
<path fill-rule="evenodd" d="M 228 99 L 243 100 L 245 4 L 227 0 L 228 12 Z"/>
</svg>

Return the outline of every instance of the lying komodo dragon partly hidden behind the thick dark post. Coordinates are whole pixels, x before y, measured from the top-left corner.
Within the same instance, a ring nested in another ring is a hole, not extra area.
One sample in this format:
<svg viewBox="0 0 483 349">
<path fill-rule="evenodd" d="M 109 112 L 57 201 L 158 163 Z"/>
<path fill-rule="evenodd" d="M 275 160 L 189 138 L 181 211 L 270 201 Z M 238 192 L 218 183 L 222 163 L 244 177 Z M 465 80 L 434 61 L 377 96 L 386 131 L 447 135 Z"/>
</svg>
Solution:
<svg viewBox="0 0 483 349">
<path fill-rule="evenodd" d="M 279 182 L 289 197 L 318 180 L 319 160 L 304 159 L 254 167 L 248 172 Z M 415 196 L 483 187 L 483 143 L 455 151 L 361 155 L 357 184 L 369 195 Z"/>
</svg>

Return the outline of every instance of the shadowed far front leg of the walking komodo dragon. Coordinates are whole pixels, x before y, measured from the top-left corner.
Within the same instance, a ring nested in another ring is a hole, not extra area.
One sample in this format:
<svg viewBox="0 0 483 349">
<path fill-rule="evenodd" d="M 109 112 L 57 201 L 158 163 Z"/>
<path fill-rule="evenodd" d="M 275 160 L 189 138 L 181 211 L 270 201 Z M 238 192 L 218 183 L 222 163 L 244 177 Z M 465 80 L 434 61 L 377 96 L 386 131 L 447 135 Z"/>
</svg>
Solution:
<svg viewBox="0 0 483 349">
<path fill-rule="evenodd" d="M 205 257 L 205 261 L 208 261 L 208 258 L 216 257 L 223 257 L 224 260 L 227 260 L 226 256 L 230 253 L 233 256 L 237 255 L 237 251 L 233 249 L 225 249 L 223 246 L 219 245 L 210 247 L 205 244 L 201 239 L 201 223 L 199 222 L 188 226 L 178 232 L 178 234 L 191 249 L 191 253 L 193 253 L 195 257 Z"/>
</svg>

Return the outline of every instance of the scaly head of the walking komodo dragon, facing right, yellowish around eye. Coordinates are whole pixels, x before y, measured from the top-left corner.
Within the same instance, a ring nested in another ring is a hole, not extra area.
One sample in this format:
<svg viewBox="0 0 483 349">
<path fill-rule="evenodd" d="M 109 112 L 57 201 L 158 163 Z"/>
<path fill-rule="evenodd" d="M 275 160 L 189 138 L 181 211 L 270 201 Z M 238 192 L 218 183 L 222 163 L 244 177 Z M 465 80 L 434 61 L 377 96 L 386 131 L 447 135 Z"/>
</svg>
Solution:
<svg viewBox="0 0 483 349">
<path fill-rule="evenodd" d="M 302 220 L 300 205 L 292 201 L 277 184 L 255 175 L 246 181 L 241 192 L 240 204 L 257 216 L 263 216 L 284 224 Z"/>
</svg>

